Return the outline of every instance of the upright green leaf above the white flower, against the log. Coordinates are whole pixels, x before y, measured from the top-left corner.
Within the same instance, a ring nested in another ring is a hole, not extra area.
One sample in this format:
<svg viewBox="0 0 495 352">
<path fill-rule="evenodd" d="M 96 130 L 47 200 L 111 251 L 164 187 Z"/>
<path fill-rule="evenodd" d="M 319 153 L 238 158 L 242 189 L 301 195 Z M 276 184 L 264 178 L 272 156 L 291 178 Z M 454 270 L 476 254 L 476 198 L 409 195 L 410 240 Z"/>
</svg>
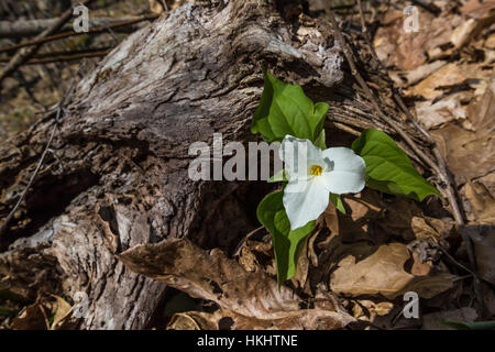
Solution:
<svg viewBox="0 0 495 352">
<path fill-rule="evenodd" d="M 329 106 L 314 105 L 298 85 L 288 85 L 266 70 L 264 75 L 263 95 L 251 131 L 261 133 L 267 142 L 282 141 L 287 134 L 311 142 L 320 139 Z"/>
</svg>

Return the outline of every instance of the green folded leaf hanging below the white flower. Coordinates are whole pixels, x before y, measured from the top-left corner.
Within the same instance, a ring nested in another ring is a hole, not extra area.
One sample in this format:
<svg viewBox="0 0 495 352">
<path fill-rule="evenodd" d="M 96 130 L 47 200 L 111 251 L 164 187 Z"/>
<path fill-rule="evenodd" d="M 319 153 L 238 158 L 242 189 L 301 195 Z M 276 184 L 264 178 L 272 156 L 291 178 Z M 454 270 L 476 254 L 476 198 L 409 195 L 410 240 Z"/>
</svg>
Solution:
<svg viewBox="0 0 495 352">
<path fill-rule="evenodd" d="M 283 191 L 272 193 L 257 206 L 257 219 L 272 234 L 278 286 L 296 274 L 297 261 L 316 223 L 309 221 L 302 228 L 290 231 L 283 196 Z"/>
</svg>

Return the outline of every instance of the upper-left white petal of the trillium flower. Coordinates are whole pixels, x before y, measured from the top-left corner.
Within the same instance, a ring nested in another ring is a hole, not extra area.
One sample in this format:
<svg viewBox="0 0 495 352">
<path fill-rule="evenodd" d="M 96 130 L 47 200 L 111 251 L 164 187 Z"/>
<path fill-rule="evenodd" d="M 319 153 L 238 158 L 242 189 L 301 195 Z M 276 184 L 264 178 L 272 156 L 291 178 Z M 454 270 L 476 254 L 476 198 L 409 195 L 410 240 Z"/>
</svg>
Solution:
<svg viewBox="0 0 495 352">
<path fill-rule="evenodd" d="M 309 166 L 327 165 L 320 148 L 309 140 L 299 140 L 292 135 L 286 135 L 282 141 L 279 156 L 285 163 L 289 179 L 306 179 L 309 176 Z"/>
</svg>

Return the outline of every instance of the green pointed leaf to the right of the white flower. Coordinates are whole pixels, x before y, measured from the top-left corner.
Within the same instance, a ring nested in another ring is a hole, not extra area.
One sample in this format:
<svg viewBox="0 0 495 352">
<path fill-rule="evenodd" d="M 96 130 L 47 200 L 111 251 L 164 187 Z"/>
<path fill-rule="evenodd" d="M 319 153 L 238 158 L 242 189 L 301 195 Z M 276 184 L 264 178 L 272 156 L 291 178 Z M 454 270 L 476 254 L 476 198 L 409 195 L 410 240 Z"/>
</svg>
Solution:
<svg viewBox="0 0 495 352">
<path fill-rule="evenodd" d="M 352 148 L 366 163 L 366 185 L 381 191 L 424 200 L 429 195 L 440 196 L 413 166 L 406 153 L 387 134 L 365 130 L 352 143 Z"/>
</svg>

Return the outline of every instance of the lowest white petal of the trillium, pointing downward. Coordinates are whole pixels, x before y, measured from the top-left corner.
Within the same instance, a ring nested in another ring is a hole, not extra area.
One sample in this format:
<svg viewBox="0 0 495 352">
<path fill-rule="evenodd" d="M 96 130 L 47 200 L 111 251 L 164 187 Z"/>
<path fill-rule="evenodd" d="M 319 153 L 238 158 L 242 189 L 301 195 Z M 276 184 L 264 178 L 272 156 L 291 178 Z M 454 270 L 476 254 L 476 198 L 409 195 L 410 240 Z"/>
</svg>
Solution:
<svg viewBox="0 0 495 352">
<path fill-rule="evenodd" d="M 327 209 L 329 190 L 323 177 L 307 180 L 290 180 L 284 190 L 284 208 L 290 221 L 290 230 L 304 227 Z"/>
</svg>

